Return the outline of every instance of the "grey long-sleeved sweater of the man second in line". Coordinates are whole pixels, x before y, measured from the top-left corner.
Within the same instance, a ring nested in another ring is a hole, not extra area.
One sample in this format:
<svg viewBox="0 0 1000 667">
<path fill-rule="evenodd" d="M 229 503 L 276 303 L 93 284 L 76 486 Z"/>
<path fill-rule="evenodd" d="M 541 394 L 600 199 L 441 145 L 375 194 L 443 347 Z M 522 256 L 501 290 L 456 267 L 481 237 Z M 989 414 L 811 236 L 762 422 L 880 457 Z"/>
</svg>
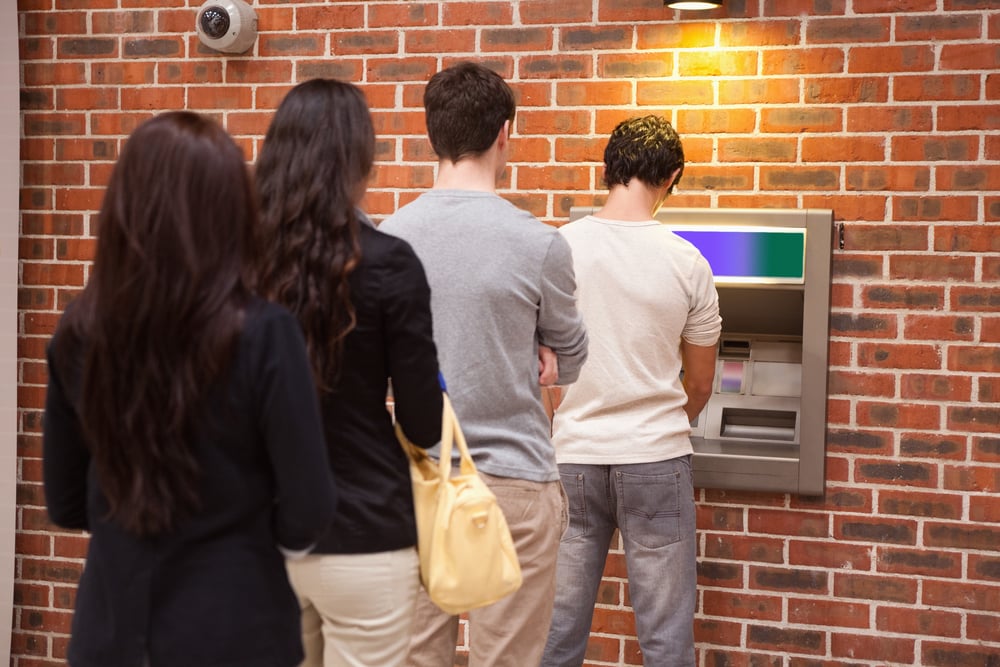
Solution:
<svg viewBox="0 0 1000 667">
<path fill-rule="evenodd" d="M 441 371 L 476 465 L 558 479 L 538 344 L 558 355 L 559 384 L 587 357 L 566 240 L 498 195 L 466 190 L 431 190 L 379 229 L 406 239 L 424 265 Z"/>
</svg>

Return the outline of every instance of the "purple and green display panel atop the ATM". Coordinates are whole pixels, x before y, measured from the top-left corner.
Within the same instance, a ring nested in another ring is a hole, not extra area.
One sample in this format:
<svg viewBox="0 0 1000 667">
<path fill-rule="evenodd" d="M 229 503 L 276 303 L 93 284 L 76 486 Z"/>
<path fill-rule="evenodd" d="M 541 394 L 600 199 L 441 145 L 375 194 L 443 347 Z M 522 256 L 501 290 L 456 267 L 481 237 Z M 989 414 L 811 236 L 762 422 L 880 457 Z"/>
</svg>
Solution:
<svg viewBox="0 0 1000 667">
<path fill-rule="evenodd" d="M 801 283 L 805 279 L 804 229 L 672 229 L 701 251 L 716 280 Z"/>
</svg>

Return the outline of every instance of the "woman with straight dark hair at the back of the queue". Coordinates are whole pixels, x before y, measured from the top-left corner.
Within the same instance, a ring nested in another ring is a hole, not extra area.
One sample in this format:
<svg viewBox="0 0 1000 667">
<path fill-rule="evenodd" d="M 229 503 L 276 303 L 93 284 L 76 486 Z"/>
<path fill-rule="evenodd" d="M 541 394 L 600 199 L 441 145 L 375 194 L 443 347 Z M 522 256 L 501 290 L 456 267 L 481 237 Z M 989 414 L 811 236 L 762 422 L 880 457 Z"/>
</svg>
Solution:
<svg viewBox="0 0 1000 667">
<path fill-rule="evenodd" d="M 302 659 L 282 550 L 336 498 L 298 323 L 253 295 L 256 221 L 215 122 L 165 113 L 125 144 L 48 350 L 48 511 L 91 532 L 72 667 Z"/>
</svg>

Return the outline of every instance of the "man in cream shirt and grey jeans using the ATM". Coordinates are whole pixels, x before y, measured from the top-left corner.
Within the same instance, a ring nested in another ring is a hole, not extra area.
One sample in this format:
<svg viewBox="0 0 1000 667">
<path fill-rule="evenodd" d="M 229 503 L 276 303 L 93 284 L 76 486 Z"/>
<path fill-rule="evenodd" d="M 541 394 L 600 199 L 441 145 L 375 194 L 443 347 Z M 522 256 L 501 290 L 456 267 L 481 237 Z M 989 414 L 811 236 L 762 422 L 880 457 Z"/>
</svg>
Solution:
<svg viewBox="0 0 1000 667">
<path fill-rule="evenodd" d="M 691 421 L 712 393 L 722 328 L 708 262 L 654 219 L 680 179 L 680 137 L 633 118 L 604 152 L 605 205 L 560 228 L 573 251 L 590 354 L 553 421 L 569 499 L 542 667 L 580 667 L 617 528 L 647 665 L 693 667 Z M 683 371 L 683 373 L 682 373 Z"/>
</svg>

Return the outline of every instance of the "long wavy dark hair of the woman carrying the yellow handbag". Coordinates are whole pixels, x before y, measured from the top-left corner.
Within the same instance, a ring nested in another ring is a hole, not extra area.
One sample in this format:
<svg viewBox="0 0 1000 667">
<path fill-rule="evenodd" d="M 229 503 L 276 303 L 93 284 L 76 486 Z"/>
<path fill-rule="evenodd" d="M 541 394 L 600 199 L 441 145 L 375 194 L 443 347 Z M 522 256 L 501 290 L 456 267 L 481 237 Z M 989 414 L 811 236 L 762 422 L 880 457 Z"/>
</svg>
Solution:
<svg viewBox="0 0 1000 667">
<path fill-rule="evenodd" d="M 321 389 L 332 386 L 355 324 L 348 284 L 361 258 L 355 206 L 374 160 L 361 91 L 313 79 L 281 102 L 256 165 L 261 292 L 298 317 Z"/>
</svg>

